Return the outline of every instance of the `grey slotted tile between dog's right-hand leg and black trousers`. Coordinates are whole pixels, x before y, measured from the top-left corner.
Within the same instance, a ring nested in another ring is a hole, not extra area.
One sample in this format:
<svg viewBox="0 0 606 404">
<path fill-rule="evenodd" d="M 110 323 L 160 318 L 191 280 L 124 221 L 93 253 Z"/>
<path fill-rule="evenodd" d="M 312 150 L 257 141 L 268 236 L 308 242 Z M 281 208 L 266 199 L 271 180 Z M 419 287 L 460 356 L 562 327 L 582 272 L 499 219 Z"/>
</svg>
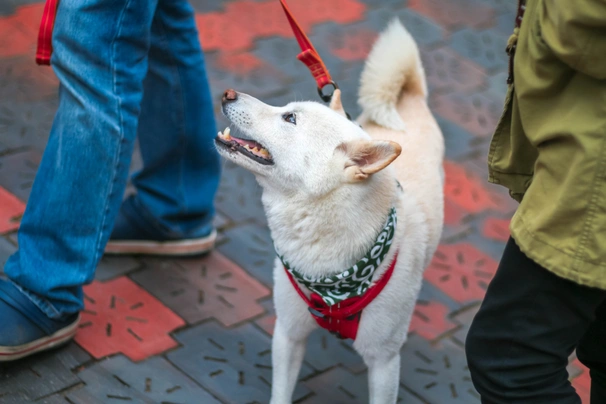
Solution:
<svg viewBox="0 0 606 404">
<path fill-rule="evenodd" d="M 409 338 L 402 350 L 402 384 L 428 403 L 474 404 L 475 391 L 465 352 L 447 341 L 430 345 L 418 337 Z"/>
</svg>

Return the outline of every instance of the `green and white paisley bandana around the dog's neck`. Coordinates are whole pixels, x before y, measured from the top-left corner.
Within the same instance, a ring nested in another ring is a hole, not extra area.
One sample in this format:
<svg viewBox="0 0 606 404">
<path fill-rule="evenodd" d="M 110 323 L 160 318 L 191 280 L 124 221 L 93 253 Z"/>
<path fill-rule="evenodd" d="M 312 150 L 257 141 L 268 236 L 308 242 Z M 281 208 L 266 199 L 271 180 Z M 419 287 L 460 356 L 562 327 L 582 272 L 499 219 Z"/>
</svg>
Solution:
<svg viewBox="0 0 606 404">
<path fill-rule="evenodd" d="M 337 275 L 312 278 L 291 268 L 283 256 L 280 256 L 280 254 L 278 256 L 286 270 L 299 283 L 320 295 L 328 306 L 332 306 L 350 297 L 361 296 L 368 290 L 372 283 L 372 276 L 389 252 L 389 247 L 391 247 L 396 232 L 396 224 L 396 209 L 391 208 L 385 226 L 383 226 L 383 230 L 379 233 L 370 251 L 353 267 Z"/>
</svg>

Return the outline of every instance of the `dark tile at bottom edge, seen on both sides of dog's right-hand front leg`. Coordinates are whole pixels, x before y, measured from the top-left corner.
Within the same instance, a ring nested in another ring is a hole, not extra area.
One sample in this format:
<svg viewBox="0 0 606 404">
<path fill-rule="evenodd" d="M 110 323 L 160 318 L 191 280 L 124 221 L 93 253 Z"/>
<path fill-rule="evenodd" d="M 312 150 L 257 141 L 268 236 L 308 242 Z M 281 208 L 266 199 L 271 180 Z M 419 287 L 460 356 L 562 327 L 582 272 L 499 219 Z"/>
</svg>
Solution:
<svg viewBox="0 0 606 404">
<path fill-rule="evenodd" d="M 368 403 L 368 375 L 353 375 L 347 370 L 335 367 L 303 382 L 313 391 L 313 395 L 301 404 L 354 404 Z M 398 392 L 397 403 L 425 404 L 404 388 Z"/>
</svg>

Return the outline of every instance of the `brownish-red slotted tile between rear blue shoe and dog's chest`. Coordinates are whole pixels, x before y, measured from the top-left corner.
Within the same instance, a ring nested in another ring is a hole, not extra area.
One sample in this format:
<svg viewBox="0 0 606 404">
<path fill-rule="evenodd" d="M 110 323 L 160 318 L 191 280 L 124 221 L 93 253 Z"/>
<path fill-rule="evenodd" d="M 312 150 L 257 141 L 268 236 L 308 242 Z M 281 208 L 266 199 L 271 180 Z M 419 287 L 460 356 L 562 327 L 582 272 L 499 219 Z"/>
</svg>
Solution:
<svg viewBox="0 0 606 404">
<path fill-rule="evenodd" d="M 132 278 L 189 324 L 215 318 L 230 327 L 265 311 L 257 300 L 269 289 L 217 252 L 168 264 Z"/>
</svg>

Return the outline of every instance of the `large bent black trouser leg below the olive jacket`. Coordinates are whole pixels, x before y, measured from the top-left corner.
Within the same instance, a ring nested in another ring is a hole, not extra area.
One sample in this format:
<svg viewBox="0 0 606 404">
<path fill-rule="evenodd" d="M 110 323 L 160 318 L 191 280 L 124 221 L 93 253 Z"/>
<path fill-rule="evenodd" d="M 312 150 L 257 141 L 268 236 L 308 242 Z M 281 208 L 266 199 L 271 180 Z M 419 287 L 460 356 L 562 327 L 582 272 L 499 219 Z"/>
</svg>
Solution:
<svg viewBox="0 0 606 404">
<path fill-rule="evenodd" d="M 566 365 L 605 297 L 542 268 L 510 239 L 466 341 L 482 403 L 580 404 Z"/>
</svg>

